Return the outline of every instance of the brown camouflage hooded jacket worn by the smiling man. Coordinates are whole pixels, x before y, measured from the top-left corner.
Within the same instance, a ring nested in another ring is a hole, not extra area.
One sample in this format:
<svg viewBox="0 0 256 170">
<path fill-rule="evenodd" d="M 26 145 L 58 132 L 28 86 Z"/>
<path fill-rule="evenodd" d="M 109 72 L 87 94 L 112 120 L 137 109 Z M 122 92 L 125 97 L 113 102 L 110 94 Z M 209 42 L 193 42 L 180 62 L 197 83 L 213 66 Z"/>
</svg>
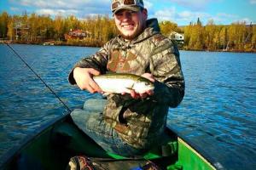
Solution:
<svg viewBox="0 0 256 170">
<path fill-rule="evenodd" d="M 125 42 L 115 37 L 96 54 L 81 59 L 75 67 L 143 75 L 153 74 L 154 95 L 148 99 L 110 94 L 103 115 L 119 136 L 135 148 L 147 149 L 159 143 L 166 128 L 169 107 L 183 99 L 184 80 L 179 53 L 173 42 L 160 34 L 157 20 L 147 20 L 147 28 L 137 38 Z M 75 84 L 73 71 L 69 82 Z"/>
</svg>

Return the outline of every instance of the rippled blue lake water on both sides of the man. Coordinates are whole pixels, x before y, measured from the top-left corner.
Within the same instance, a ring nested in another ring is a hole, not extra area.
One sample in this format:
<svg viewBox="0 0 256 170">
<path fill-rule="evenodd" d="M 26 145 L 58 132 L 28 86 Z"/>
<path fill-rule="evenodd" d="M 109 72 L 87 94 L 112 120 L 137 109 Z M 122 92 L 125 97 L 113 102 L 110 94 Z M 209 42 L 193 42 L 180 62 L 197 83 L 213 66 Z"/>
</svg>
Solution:
<svg viewBox="0 0 256 170">
<path fill-rule="evenodd" d="M 74 109 L 92 97 L 67 82 L 82 56 L 98 48 L 12 45 Z M 186 82 L 168 126 L 225 169 L 256 169 L 256 54 L 180 51 Z M 65 107 L 5 45 L 0 45 L 0 156 Z"/>
</svg>

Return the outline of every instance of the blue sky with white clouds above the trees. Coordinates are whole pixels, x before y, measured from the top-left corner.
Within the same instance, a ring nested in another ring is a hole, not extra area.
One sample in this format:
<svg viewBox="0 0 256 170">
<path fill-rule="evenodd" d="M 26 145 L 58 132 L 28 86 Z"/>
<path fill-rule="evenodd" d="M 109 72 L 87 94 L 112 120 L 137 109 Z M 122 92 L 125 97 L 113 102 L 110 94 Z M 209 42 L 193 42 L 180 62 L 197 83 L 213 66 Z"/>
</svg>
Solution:
<svg viewBox="0 0 256 170">
<path fill-rule="evenodd" d="M 0 13 L 75 15 L 108 14 L 112 17 L 110 0 L 0 0 Z M 203 25 L 213 20 L 217 25 L 237 21 L 256 24 L 256 0 L 144 0 L 148 18 L 171 20 L 178 26 L 187 26 L 199 17 Z"/>
</svg>

